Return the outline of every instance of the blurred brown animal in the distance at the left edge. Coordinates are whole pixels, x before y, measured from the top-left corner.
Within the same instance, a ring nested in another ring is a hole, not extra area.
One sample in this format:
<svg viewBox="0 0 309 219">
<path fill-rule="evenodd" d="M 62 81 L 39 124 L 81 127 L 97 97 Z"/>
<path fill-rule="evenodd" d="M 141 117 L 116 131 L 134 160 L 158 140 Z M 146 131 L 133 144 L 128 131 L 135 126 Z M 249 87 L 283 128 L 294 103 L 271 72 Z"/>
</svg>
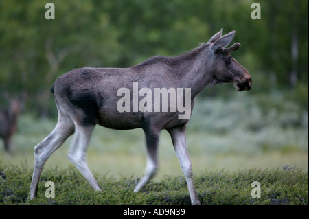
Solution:
<svg viewBox="0 0 309 219">
<path fill-rule="evenodd" d="M 5 95 L 5 97 L 10 104 L 8 108 L 0 111 L 0 137 L 4 141 L 5 152 L 12 153 L 15 148 L 11 139 L 12 135 L 16 132 L 19 113 L 21 112 L 26 95 L 23 94 L 17 98 L 11 98 L 8 95 Z"/>
</svg>

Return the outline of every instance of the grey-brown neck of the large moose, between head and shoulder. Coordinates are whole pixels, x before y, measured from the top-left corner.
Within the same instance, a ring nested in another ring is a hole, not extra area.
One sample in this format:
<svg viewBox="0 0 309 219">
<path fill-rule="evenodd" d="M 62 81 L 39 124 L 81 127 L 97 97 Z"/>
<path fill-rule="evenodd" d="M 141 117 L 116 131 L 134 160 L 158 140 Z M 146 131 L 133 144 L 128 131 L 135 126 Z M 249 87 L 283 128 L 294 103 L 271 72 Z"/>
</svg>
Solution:
<svg viewBox="0 0 309 219">
<path fill-rule="evenodd" d="M 179 71 L 183 76 L 182 87 L 191 89 L 192 100 L 198 93 L 201 93 L 207 84 L 216 84 L 216 80 L 211 73 L 213 59 L 208 46 L 202 45 L 190 51 L 190 53 L 194 53 L 194 51 L 196 54 L 190 60 L 183 62 L 179 67 Z"/>
</svg>

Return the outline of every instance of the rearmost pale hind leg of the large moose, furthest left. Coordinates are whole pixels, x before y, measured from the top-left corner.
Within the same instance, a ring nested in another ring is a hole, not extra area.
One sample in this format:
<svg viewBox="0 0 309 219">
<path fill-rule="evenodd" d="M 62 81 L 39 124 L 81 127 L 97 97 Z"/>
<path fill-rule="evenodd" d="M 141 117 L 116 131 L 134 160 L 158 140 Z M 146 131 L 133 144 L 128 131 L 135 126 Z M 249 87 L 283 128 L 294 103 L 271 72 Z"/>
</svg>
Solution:
<svg viewBox="0 0 309 219">
<path fill-rule="evenodd" d="M 36 197 L 38 181 L 47 159 L 73 134 L 73 131 L 73 121 L 69 117 L 59 115 L 58 123 L 54 130 L 34 147 L 34 170 L 30 186 L 30 199 Z"/>
</svg>

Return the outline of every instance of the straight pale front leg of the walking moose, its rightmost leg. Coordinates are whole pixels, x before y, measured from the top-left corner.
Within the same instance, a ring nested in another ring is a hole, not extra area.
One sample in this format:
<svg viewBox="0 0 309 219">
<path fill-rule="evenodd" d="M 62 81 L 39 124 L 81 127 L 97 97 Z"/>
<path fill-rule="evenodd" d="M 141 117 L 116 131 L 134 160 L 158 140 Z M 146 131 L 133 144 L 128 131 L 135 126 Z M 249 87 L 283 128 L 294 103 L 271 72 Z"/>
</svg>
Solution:
<svg viewBox="0 0 309 219">
<path fill-rule="evenodd" d="M 170 136 L 172 137 L 172 142 L 174 145 L 175 152 L 177 154 L 179 163 L 181 165 L 181 170 L 185 175 L 185 180 L 187 181 L 187 187 L 189 189 L 190 198 L 192 205 L 201 205 L 200 201 L 196 196 L 194 189 L 194 183 L 192 178 L 192 164 L 189 153 L 187 152 L 187 140 L 185 137 L 185 126 L 176 127 L 168 130 Z"/>
</svg>

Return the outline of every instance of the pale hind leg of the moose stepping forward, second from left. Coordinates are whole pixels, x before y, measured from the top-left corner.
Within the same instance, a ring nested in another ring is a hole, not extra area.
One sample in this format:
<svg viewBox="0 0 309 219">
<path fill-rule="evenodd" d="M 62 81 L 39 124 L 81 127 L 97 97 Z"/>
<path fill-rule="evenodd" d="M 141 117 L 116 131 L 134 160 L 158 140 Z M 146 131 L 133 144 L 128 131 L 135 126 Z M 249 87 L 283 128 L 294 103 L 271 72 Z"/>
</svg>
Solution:
<svg viewBox="0 0 309 219">
<path fill-rule="evenodd" d="M 78 168 L 80 173 L 87 179 L 88 183 L 95 190 L 101 190 L 99 183 L 91 174 L 87 164 L 87 146 L 91 137 L 94 126 L 81 126 L 76 124 L 75 136 L 71 142 L 67 157 L 73 165 Z"/>
</svg>

